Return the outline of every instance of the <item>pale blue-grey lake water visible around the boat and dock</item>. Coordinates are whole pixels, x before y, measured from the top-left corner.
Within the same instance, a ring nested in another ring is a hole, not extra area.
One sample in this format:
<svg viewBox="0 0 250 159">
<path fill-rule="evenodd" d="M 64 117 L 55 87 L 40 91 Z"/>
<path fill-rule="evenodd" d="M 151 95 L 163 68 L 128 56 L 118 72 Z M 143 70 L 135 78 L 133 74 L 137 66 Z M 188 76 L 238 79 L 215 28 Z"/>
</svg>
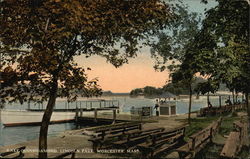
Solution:
<svg viewBox="0 0 250 159">
<path fill-rule="evenodd" d="M 155 99 L 148 99 L 144 97 L 139 98 L 130 98 L 128 96 L 117 96 L 117 97 L 102 97 L 102 99 L 106 100 L 118 100 L 120 104 L 120 111 L 123 112 L 129 112 L 131 107 L 141 107 L 141 106 L 154 106 L 155 105 Z M 222 97 L 222 104 L 225 103 L 225 100 L 227 97 Z M 75 108 L 76 106 L 85 107 L 86 105 L 80 103 L 80 101 L 84 101 L 86 98 L 78 99 L 78 102 L 74 103 L 66 103 L 64 99 L 58 99 L 56 103 L 56 108 Z M 216 106 L 219 105 L 219 99 L 218 97 L 210 97 L 210 102 L 212 105 Z M 43 104 L 45 106 L 46 103 Z M 176 102 L 177 105 L 177 113 L 178 114 L 184 114 L 188 112 L 188 100 L 183 99 Z M 206 97 L 200 97 L 198 100 L 193 100 L 192 103 L 192 111 L 199 110 L 202 107 L 207 106 L 207 98 Z M 31 108 L 38 108 L 42 107 L 42 105 L 30 103 Z M 95 107 L 93 105 L 93 107 Z M 20 105 L 18 103 L 14 103 L 11 105 L 7 105 L 6 108 L 8 109 L 26 109 L 28 108 L 28 104 L 24 103 L 23 105 Z M 155 112 L 154 112 L 155 113 Z M 11 144 L 17 144 L 24 141 L 29 141 L 38 138 L 39 135 L 39 126 L 20 126 L 20 127 L 3 127 L 0 123 L 0 146 L 4 145 L 11 145 Z M 76 126 L 74 123 L 64 123 L 64 124 L 54 124 L 49 126 L 49 136 L 55 136 L 59 134 L 60 132 L 63 132 L 65 130 L 71 130 L 75 129 Z"/>
</svg>

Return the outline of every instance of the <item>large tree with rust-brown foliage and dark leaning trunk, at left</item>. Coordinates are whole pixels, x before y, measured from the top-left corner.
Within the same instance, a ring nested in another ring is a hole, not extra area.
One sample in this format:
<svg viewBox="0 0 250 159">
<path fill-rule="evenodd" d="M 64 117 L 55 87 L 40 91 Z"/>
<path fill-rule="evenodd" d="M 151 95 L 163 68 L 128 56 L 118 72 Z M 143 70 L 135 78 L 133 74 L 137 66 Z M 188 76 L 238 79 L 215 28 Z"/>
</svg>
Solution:
<svg viewBox="0 0 250 159">
<path fill-rule="evenodd" d="M 100 92 L 95 80 L 87 82 L 74 56 L 100 55 L 118 67 L 136 56 L 139 41 L 162 29 L 172 16 L 160 0 L 1 0 L 0 14 L 2 99 L 48 99 L 39 158 L 47 158 L 48 124 L 56 98 L 75 100 L 78 89 L 85 96 Z"/>
</svg>

